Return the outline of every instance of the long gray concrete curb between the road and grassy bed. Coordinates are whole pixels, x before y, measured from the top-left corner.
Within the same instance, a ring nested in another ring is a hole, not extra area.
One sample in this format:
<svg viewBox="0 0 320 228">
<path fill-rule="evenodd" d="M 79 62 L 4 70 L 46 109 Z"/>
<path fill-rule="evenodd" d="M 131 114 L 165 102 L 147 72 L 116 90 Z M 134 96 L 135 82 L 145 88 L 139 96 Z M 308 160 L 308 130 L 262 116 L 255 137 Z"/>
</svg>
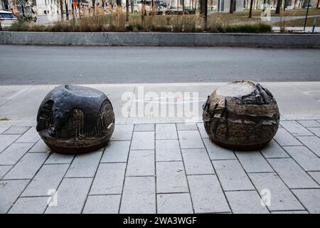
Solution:
<svg viewBox="0 0 320 228">
<path fill-rule="evenodd" d="M 241 46 L 320 48 L 320 34 L 1 31 L 0 44 L 61 46 Z"/>
</svg>

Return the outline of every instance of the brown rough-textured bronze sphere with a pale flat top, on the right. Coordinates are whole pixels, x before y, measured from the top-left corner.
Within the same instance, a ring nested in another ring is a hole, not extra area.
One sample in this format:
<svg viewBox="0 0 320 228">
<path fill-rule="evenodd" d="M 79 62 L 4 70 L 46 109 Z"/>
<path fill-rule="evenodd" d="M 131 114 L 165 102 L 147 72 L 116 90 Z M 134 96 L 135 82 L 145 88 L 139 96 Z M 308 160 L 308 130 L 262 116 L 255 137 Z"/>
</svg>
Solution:
<svg viewBox="0 0 320 228">
<path fill-rule="evenodd" d="M 203 105 L 203 123 L 210 139 L 232 150 L 257 150 L 279 127 L 279 108 L 259 83 L 234 81 L 217 88 Z"/>
</svg>

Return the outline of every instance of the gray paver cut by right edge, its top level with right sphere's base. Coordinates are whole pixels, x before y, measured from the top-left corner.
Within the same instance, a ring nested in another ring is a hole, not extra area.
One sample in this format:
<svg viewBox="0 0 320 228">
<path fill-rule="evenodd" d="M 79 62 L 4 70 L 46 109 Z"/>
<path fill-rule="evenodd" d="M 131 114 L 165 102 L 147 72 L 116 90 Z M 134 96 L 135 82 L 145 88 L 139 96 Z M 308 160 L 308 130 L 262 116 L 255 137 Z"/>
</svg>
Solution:
<svg viewBox="0 0 320 228">
<path fill-rule="evenodd" d="M 306 171 L 320 171 L 320 159 L 316 157 L 308 148 L 302 147 L 284 147 L 289 155 L 302 166 Z"/>
</svg>

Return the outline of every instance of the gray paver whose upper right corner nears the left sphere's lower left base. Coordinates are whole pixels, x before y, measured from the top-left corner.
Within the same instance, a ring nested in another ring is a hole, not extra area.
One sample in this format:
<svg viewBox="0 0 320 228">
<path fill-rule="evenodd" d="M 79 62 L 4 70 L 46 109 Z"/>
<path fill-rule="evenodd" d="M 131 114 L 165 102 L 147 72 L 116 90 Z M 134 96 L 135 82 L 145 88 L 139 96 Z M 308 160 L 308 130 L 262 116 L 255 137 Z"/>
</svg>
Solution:
<svg viewBox="0 0 320 228">
<path fill-rule="evenodd" d="M 32 179 L 47 157 L 43 153 L 26 153 L 4 179 Z"/>
</svg>

